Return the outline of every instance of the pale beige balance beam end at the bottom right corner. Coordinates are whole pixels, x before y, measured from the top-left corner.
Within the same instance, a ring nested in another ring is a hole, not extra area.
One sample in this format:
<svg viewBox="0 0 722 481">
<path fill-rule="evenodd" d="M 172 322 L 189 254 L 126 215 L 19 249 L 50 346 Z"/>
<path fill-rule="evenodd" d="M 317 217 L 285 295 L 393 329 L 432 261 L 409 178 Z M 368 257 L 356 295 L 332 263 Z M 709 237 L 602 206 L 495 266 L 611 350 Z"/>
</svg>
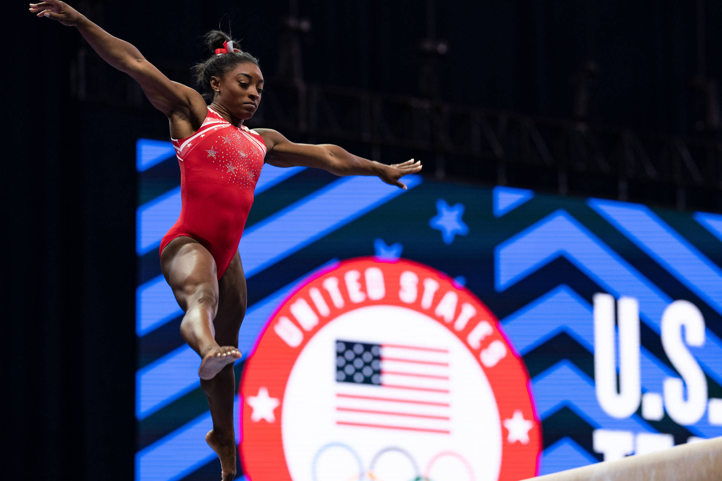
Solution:
<svg viewBox="0 0 722 481">
<path fill-rule="evenodd" d="M 534 478 L 534 481 L 719 480 L 722 480 L 722 437 Z"/>
</svg>

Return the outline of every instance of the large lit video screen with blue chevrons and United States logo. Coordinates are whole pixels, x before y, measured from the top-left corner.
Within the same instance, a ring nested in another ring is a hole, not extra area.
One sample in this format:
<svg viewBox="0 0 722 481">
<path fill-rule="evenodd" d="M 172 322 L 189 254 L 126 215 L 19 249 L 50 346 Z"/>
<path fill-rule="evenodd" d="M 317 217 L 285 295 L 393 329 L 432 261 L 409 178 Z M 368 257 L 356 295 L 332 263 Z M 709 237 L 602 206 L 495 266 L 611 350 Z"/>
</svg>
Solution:
<svg viewBox="0 0 722 481">
<path fill-rule="evenodd" d="M 139 139 L 136 480 L 217 476 Z M 247 480 L 513 481 L 722 435 L 722 216 L 266 165 L 240 242 Z"/>
</svg>

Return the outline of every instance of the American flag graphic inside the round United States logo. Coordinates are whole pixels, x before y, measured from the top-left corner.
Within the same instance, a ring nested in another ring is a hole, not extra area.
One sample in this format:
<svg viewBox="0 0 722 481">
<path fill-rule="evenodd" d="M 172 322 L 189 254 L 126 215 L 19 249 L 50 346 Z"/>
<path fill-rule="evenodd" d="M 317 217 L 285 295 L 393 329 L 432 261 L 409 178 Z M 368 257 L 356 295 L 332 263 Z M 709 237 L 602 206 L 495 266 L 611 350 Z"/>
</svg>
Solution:
<svg viewBox="0 0 722 481">
<path fill-rule="evenodd" d="M 451 433 L 449 351 L 336 340 L 336 424 Z"/>
</svg>

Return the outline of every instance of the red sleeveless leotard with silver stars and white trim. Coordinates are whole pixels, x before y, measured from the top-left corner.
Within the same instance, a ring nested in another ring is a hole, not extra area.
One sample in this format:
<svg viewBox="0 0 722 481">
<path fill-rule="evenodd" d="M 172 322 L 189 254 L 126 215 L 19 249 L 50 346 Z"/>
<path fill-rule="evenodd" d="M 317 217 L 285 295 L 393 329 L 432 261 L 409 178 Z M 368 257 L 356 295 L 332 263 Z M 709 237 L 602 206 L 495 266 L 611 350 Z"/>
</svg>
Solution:
<svg viewBox="0 0 722 481">
<path fill-rule="evenodd" d="M 238 250 L 266 144 L 258 133 L 231 125 L 208 107 L 201 128 L 173 140 L 173 146 L 181 166 L 181 216 L 160 242 L 160 252 L 176 237 L 192 237 L 211 253 L 220 279 Z"/>
</svg>

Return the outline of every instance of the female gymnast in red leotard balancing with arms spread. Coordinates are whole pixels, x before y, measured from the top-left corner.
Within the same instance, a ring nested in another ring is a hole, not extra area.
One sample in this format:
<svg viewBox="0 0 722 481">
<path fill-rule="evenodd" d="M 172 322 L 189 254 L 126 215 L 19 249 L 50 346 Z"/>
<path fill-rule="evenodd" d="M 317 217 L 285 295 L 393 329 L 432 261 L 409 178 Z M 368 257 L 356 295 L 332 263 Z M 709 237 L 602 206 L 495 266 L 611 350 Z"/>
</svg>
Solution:
<svg viewBox="0 0 722 481">
<path fill-rule="evenodd" d="M 339 146 L 295 144 L 277 131 L 249 130 L 243 121 L 258 109 L 264 77 L 258 60 L 238 50 L 223 32 L 206 41 L 213 55 L 196 66 L 204 96 L 170 81 L 130 43 L 113 37 L 62 1 L 30 4 L 38 17 L 77 27 L 111 66 L 135 79 L 170 121 L 181 167 L 181 216 L 160 244 L 160 265 L 186 313 L 181 334 L 201 357 L 198 375 L 213 418 L 206 442 L 218 455 L 222 479 L 235 476 L 233 363 L 240 358 L 238 330 L 246 287 L 238 242 L 253 203 L 261 167 L 305 166 L 334 175 L 375 175 L 403 189 L 403 175 L 419 172 L 413 159 L 384 165 Z M 211 101 L 206 105 L 206 97 Z M 178 139 L 178 140 L 176 140 Z"/>
</svg>

